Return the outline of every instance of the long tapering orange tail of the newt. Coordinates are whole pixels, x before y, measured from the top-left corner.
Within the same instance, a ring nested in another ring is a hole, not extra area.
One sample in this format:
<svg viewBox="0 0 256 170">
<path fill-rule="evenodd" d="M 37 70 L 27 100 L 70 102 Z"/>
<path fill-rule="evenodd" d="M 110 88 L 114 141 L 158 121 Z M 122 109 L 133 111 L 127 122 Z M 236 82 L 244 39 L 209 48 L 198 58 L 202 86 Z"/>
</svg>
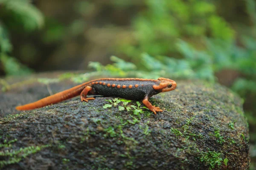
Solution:
<svg viewBox="0 0 256 170">
<path fill-rule="evenodd" d="M 83 91 L 83 89 L 87 85 L 88 85 L 88 83 L 85 82 L 84 84 L 77 85 L 73 88 L 70 88 L 70 89 L 65 90 L 65 91 L 61 91 L 61 92 L 56 93 L 52 96 L 45 97 L 45 98 L 43 98 L 41 100 L 38 100 L 36 102 L 29 103 L 29 104 L 22 105 L 22 106 L 17 106 L 16 109 L 19 110 L 19 111 L 26 111 L 26 110 L 32 110 L 32 109 L 35 109 L 35 108 L 42 108 L 42 107 L 47 106 L 47 105 L 51 105 L 51 104 L 54 104 L 54 103 L 58 103 L 58 102 L 70 99 L 70 98 L 75 97 L 75 96 L 79 96 L 79 94 Z"/>
</svg>

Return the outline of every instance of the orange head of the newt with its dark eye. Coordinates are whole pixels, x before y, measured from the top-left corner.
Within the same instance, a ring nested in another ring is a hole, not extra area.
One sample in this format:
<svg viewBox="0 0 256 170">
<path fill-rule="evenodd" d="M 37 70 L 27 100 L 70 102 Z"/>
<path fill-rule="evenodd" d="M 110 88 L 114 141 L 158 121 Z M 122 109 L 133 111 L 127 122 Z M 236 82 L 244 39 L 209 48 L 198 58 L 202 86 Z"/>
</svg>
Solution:
<svg viewBox="0 0 256 170">
<path fill-rule="evenodd" d="M 177 83 L 171 79 L 166 79 L 166 78 L 160 77 L 160 78 L 158 78 L 158 80 L 160 80 L 160 84 L 153 85 L 153 88 L 155 90 L 160 90 L 161 92 L 172 91 L 177 86 Z"/>
</svg>

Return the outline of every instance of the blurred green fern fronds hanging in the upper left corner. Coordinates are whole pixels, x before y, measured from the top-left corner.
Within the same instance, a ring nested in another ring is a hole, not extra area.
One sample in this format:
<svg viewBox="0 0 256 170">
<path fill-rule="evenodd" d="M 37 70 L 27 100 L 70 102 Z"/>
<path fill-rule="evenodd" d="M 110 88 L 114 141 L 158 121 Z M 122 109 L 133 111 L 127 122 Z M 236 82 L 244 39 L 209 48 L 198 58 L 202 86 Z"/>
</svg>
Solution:
<svg viewBox="0 0 256 170">
<path fill-rule="evenodd" d="M 44 24 L 43 14 L 30 0 L 0 0 L 0 9 L 0 69 L 6 75 L 28 74 L 31 70 L 10 56 L 12 44 L 9 30 L 30 32 L 41 28 Z"/>
</svg>

